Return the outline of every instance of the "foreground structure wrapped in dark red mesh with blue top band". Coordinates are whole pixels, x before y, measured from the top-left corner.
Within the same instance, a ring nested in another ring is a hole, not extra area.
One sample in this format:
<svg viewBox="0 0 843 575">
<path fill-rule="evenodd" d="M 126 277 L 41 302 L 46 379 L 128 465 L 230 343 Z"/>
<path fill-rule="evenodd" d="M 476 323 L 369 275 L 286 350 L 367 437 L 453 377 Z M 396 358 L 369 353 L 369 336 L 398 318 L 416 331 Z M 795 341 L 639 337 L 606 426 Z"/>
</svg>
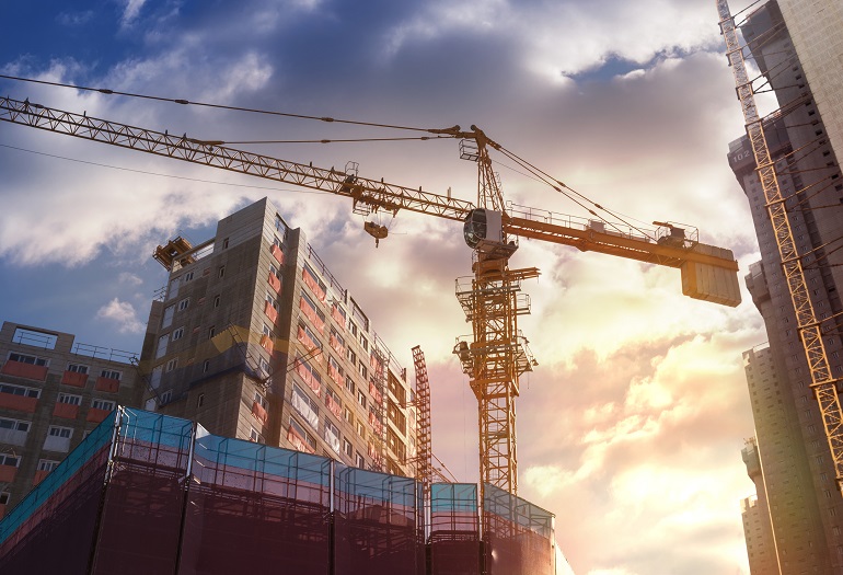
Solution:
<svg viewBox="0 0 843 575">
<path fill-rule="evenodd" d="M 0 572 L 554 574 L 554 516 L 477 492 L 119 407 L 0 522 Z"/>
</svg>

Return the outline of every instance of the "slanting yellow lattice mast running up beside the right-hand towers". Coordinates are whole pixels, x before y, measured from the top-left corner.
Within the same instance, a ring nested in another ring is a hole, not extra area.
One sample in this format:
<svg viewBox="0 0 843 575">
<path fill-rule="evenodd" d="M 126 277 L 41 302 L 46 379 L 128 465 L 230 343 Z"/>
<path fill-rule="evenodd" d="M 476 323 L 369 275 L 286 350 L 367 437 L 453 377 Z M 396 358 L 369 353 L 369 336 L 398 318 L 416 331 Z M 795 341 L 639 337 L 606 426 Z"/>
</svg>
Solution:
<svg viewBox="0 0 843 575">
<path fill-rule="evenodd" d="M 790 216 L 785 205 L 787 198 L 783 196 L 778 186 L 775 161 L 771 158 L 766 143 L 763 118 L 759 115 L 755 105 L 752 81 L 749 79 L 743 58 L 743 47 L 740 45 L 738 28 L 735 24 L 735 18 L 729 11 L 727 0 L 717 0 L 717 13 L 720 18 L 720 31 L 726 42 L 726 55 L 735 76 L 738 100 L 743 111 L 747 135 L 752 146 L 759 180 L 766 199 L 770 222 L 773 226 L 773 234 L 778 246 L 785 283 L 796 312 L 797 329 L 808 360 L 811 389 L 813 389 L 820 407 L 822 425 L 834 464 L 838 490 L 843 491 L 843 410 L 841 410 L 838 393 L 838 384 L 841 379 L 832 377 L 825 345 L 822 342 L 821 323 L 811 303 L 801 255 L 796 248 Z"/>
</svg>

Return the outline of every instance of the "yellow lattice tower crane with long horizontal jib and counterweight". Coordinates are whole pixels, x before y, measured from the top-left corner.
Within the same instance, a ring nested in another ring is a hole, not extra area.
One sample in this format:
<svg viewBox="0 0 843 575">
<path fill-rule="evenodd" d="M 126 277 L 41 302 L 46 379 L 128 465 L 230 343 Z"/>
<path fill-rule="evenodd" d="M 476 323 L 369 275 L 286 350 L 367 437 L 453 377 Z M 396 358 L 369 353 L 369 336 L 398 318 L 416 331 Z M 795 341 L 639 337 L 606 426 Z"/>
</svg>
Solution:
<svg viewBox="0 0 843 575">
<path fill-rule="evenodd" d="M 740 303 L 738 264 L 731 251 L 700 243 L 694 229 L 669 222 L 655 222 L 657 227 L 646 233 L 639 228 L 608 229 L 603 221 L 578 222 L 544 209 L 505 205 L 489 157 L 490 149 L 504 149 L 476 126 L 429 130 L 459 139 L 461 158 L 476 162 L 475 205 L 450 193 L 439 195 L 360 177 L 356 164 L 342 171 L 326 170 L 238 150 L 220 141 L 54 110 L 28 100 L 1 97 L 0 120 L 328 192 L 350 198 L 353 210 L 361 215 L 384 210 L 394 216 L 405 209 L 462 221 L 465 241 L 473 249 L 473 276 L 458 280 L 457 297 L 472 324 L 473 337 L 458 340 L 454 353 L 478 403 L 482 494 L 486 484 L 511 494 L 518 488 L 515 400 L 520 376 L 535 365 L 518 329 L 518 318 L 529 313 L 529 298 L 521 292 L 521 283 L 539 275 L 535 267 L 509 267 L 519 238 L 679 268 L 684 295 L 732 307 Z"/>
</svg>

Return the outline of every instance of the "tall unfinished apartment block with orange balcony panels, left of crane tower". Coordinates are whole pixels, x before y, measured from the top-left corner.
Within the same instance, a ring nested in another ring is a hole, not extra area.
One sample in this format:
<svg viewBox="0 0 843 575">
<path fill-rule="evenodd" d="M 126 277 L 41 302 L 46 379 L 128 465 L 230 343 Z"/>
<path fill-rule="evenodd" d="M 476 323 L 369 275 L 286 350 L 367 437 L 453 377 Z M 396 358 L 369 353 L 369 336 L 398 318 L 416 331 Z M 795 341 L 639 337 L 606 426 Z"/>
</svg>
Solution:
<svg viewBox="0 0 843 575">
<path fill-rule="evenodd" d="M 147 409 L 209 432 L 412 475 L 416 409 L 369 318 L 266 198 L 178 238 L 141 365 Z"/>
</svg>

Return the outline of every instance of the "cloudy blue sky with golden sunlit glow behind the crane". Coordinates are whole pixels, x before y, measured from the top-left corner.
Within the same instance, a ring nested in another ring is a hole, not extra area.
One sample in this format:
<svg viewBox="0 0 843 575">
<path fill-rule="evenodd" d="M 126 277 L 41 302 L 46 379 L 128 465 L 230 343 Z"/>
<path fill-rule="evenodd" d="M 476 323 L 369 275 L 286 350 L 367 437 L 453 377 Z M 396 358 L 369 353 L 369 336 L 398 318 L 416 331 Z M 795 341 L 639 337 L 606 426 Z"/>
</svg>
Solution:
<svg viewBox="0 0 843 575">
<path fill-rule="evenodd" d="M 735 252 L 741 286 L 760 257 L 726 159 L 743 124 L 714 0 L 45 0 L 37 18 L 5 8 L 5 76 L 373 124 L 475 124 L 631 221 L 695 226 Z M 418 136 L 2 79 L 0 93 L 209 140 Z M 476 169 L 452 139 L 240 147 L 323 168 L 355 161 L 361 176 L 476 202 Z M 508 200 L 587 216 L 493 161 Z M 7 123 L 0 174 L 0 319 L 135 352 L 166 278 L 154 246 L 201 242 L 268 196 L 411 371 L 422 346 L 434 450 L 476 481 L 476 402 L 451 354 L 471 332 L 454 297 L 471 274 L 459 223 L 382 217 L 390 235 L 376 248 L 343 198 Z M 510 264 L 542 272 L 523 285 L 532 314 L 519 320 L 539 361 L 517 405 L 519 495 L 556 515 L 565 570 L 748 574 L 741 353 L 766 336 L 746 289 L 721 308 L 684 298 L 675 269 L 530 240 Z"/>
</svg>

